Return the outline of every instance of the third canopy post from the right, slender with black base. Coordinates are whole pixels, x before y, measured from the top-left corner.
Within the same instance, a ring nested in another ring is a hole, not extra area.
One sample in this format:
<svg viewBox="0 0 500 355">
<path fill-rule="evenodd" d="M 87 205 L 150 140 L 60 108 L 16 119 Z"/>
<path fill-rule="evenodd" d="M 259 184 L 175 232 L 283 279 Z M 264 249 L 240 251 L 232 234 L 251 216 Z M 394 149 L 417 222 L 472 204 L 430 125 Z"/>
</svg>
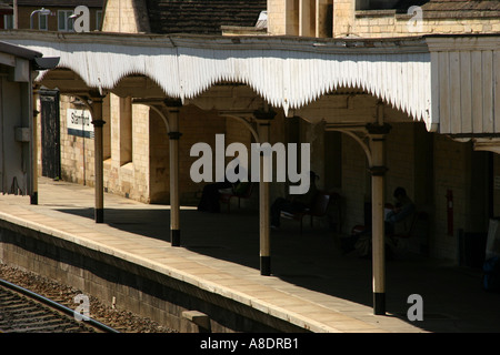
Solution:
<svg viewBox="0 0 500 355">
<path fill-rule="evenodd" d="M 179 102 L 167 103 L 169 118 L 169 151 L 170 151 L 170 243 L 180 246 L 180 203 L 179 203 Z"/>
</svg>

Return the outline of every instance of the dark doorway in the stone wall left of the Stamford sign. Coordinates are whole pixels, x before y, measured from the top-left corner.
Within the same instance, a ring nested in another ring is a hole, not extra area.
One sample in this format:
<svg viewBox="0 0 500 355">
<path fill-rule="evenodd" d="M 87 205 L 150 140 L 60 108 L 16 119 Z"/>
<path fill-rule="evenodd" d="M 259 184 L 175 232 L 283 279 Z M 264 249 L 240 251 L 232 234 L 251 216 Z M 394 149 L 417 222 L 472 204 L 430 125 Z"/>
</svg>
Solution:
<svg viewBox="0 0 500 355">
<path fill-rule="evenodd" d="M 42 176 L 61 176 L 59 91 L 41 90 L 41 165 Z"/>
</svg>

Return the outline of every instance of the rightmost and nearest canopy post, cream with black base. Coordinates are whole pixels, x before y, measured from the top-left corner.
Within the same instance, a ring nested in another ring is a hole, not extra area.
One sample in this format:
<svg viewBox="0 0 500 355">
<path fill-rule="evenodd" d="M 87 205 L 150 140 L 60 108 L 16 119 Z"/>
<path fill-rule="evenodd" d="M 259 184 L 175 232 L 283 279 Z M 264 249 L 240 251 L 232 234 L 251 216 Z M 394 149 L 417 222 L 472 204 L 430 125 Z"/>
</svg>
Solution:
<svg viewBox="0 0 500 355">
<path fill-rule="evenodd" d="M 373 313 L 386 314 L 386 231 L 384 231 L 384 175 L 386 135 L 389 124 L 367 125 L 371 151 L 371 215 L 372 215 L 372 263 L 373 263 Z"/>
</svg>

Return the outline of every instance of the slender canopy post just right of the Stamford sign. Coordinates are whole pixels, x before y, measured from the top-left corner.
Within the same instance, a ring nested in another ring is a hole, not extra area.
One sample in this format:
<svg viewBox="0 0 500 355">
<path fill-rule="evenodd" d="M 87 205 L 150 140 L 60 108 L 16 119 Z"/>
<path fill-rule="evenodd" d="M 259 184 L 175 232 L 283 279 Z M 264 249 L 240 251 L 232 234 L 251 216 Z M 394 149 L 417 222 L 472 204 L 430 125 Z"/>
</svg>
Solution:
<svg viewBox="0 0 500 355">
<path fill-rule="evenodd" d="M 96 189 L 96 223 L 104 222 L 104 179 L 103 179 L 103 149 L 102 149 L 102 97 L 94 95 L 92 100 L 93 150 L 94 150 L 94 189 Z"/>
</svg>

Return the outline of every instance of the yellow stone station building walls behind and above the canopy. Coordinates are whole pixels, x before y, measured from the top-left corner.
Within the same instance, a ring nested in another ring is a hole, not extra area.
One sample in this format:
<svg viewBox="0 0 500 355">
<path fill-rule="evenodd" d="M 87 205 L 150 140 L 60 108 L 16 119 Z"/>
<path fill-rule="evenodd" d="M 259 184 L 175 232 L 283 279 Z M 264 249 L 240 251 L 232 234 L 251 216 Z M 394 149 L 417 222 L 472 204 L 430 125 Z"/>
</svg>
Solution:
<svg viewBox="0 0 500 355">
<path fill-rule="evenodd" d="M 420 8 L 409 12 L 414 4 Z M 267 11 L 264 27 L 256 26 L 261 11 Z M 429 215 L 419 239 L 413 241 L 413 251 L 458 261 L 464 253 L 460 236 L 484 235 L 489 220 L 498 215 L 500 209 L 497 186 L 500 168 L 494 153 L 499 111 L 492 110 L 498 106 L 499 53 L 494 43 L 500 30 L 499 11 L 496 1 L 281 0 L 217 2 L 217 6 L 206 1 L 108 1 L 102 31 L 224 34 L 234 38 L 284 36 L 297 37 L 297 41 L 301 38 L 361 41 L 430 34 L 436 39 L 436 45 L 446 45 L 438 43 L 439 36 L 457 36 L 456 41 L 459 41 L 460 36 L 470 34 L 484 41 L 484 47 L 478 40 L 467 42 L 469 50 L 459 55 L 450 53 L 451 47 L 443 48 L 444 54 L 437 59 L 453 63 L 450 70 L 470 72 L 469 84 L 450 85 L 449 94 L 458 98 L 461 105 L 441 112 L 439 123 L 426 123 L 421 118 L 412 116 L 411 108 L 404 110 L 382 100 L 386 120 L 391 126 L 386 138 L 388 171 L 384 200 L 392 202 L 393 190 L 404 186 L 418 210 Z M 491 47 L 487 44 L 489 39 Z M 451 73 L 449 75 L 452 78 Z M 130 73 L 122 85 L 140 84 L 143 92 L 157 100 L 154 91 L 158 91 L 158 85 L 149 78 L 138 77 Z M 351 134 L 343 134 L 352 126 L 376 120 L 381 100 L 367 89 L 338 88 L 311 99 L 303 108 L 289 110 L 287 114 L 281 108 L 276 108 L 277 115 L 270 128 L 271 144 L 311 144 L 311 169 L 320 176 L 319 187 L 342 196 L 342 221 L 338 224 L 341 230 L 337 231 L 341 233 L 349 233 L 357 224 L 370 223 L 369 161 L 358 142 L 366 136 L 356 129 Z M 226 134 L 226 144 L 242 142 L 250 146 L 254 142 L 251 132 L 224 112 L 252 108 L 251 104 L 259 100 L 263 104 L 264 100 L 248 84 L 220 82 L 208 87 L 199 98 L 184 102 L 179 111 L 181 203 L 196 205 L 197 192 L 202 189 L 189 175 L 197 159 L 190 156 L 190 148 L 197 142 L 207 142 L 214 148 L 216 134 Z M 452 99 L 449 100 L 451 102 Z M 481 101 L 480 106 L 476 105 L 478 100 Z M 104 98 L 103 108 L 107 122 L 103 126 L 104 190 L 144 203 L 168 204 L 169 144 L 162 119 L 143 98 L 109 94 Z M 81 132 L 76 133 L 78 130 L 68 126 L 71 121 L 69 112 L 78 112 L 79 109 L 82 104 L 77 95 L 61 97 L 61 168 L 60 174 L 52 173 L 52 178 L 92 185 L 92 138 L 79 136 Z M 40 111 L 43 115 L 44 109 Z M 332 121 L 341 124 L 332 124 Z M 42 153 L 43 149 L 40 150 L 40 171 Z M 271 201 L 286 194 L 286 185 L 271 184 Z M 257 210 L 258 193 L 242 203 L 244 207 Z M 327 220 L 323 226 L 329 225 Z"/>
</svg>

